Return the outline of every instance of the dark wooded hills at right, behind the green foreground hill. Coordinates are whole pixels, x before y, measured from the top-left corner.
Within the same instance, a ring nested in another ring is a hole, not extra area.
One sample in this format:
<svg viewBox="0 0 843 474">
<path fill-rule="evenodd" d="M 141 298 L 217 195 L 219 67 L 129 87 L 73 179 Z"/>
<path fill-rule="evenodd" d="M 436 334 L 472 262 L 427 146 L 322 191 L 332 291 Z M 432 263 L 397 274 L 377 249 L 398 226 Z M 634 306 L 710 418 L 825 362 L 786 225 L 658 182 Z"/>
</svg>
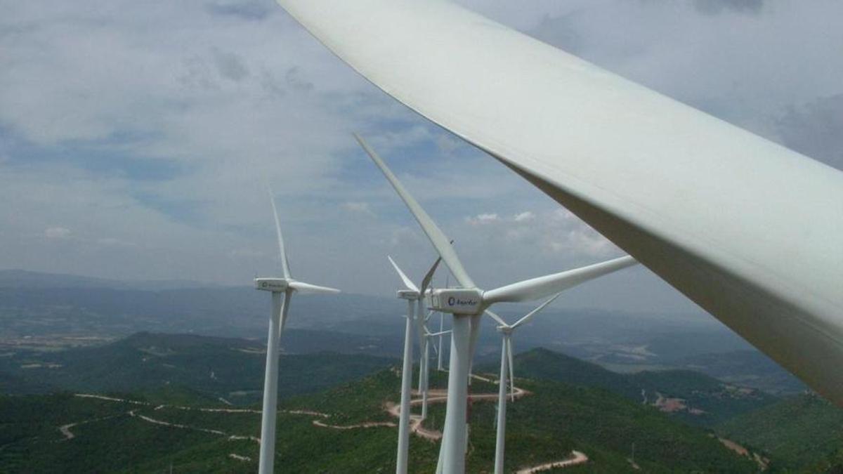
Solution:
<svg viewBox="0 0 843 474">
<path fill-rule="evenodd" d="M 559 380 L 568 385 L 599 387 L 642 405 L 657 407 L 688 423 L 711 426 L 739 413 L 777 401 L 762 391 L 730 385 L 690 370 L 618 374 L 597 364 L 533 349 L 514 358 L 516 377 Z M 496 366 L 486 365 L 494 370 Z"/>
</svg>

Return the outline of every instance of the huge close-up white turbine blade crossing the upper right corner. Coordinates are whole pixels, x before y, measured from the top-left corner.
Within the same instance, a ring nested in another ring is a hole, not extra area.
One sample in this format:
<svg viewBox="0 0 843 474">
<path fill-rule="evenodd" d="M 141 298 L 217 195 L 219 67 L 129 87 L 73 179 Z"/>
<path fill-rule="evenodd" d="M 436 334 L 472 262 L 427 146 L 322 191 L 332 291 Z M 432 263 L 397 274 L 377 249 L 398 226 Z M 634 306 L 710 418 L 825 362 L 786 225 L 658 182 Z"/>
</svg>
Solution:
<svg viewBox="0 0 843 474">
<path fill-rule="evenodd" d="M 455 2 L 277 1 L 843 405 L 840 170 Z"/>
</svg>

